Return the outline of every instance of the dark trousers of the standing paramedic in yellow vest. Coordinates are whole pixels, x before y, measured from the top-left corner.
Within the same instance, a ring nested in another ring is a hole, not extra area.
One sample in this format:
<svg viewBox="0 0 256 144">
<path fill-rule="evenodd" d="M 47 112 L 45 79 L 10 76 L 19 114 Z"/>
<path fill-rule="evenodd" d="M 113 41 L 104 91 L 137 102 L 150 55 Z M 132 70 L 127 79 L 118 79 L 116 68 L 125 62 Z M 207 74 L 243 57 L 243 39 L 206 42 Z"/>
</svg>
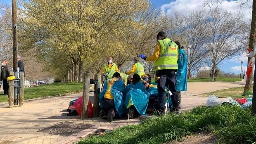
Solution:
<svg viewBox="0 0 256 144">
<path fill-rule="evenodd" d="M 159 109 L 164 110 L 166 108 L 166 92 L 165 87 L 168 87 L 168 89 L 171 91 L 171 101 L 173 104 L 173 107 L 178 107 L 178 96 L 177 92 L 175 90 L 175 70 L 171 69 L 164 69 L 156 71 L 156 76 L 160 76 L 160 79 L 157 80 L 157 88 L 158 88 L 158 96 L 159 96 Z"/>
</svg>

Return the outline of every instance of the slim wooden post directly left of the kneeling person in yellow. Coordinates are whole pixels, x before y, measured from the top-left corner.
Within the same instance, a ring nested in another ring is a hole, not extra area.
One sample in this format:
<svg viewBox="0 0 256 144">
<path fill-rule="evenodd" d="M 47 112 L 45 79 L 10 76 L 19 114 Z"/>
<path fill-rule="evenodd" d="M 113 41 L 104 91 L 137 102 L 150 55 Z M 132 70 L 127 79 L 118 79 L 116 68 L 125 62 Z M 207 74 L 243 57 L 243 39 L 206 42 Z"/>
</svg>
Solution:
<svg viewBox="0 0 256 144">
<path fill-rule="evenodd" d="M 94 85 L 93 116 L 98 116 L 101 75 L 95 74 L 94 79 L 98 81 Z"/>
</svg>

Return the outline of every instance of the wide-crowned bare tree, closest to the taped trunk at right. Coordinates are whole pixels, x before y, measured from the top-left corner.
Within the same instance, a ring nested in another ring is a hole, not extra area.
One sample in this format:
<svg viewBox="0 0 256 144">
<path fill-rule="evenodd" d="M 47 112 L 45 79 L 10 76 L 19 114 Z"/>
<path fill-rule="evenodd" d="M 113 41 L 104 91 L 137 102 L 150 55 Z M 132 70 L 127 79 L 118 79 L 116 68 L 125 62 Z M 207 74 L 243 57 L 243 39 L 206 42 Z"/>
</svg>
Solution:
<svg viewBox="0 0 256 144">
<path fill-rule="evenodd" d="M 213 9 L 207 14 L 209 19 L 209 39 L 205 46 L 209 50 L 205 57 L 206 64 L 211 68 L 211 78 L 214 81 L 216 67 L 221 61 L 232 57 L 244 49 L 246 24 L 242 14 L 231 14 L 222 9 Z"/>
</svg>

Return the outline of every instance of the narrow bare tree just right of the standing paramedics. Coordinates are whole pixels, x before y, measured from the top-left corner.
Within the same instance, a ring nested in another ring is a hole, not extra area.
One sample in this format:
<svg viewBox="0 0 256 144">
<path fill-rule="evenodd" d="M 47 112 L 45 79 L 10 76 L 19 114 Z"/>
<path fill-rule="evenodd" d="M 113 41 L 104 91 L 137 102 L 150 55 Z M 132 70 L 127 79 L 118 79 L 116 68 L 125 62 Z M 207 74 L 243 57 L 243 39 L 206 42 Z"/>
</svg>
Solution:
<svg viewBox="0 0 256 144">
<path fill-rule="evenodd" d="M 185 52 L 187 54 L 188 78 L 190 78 L 191 76 L 191 71 L 194 71 L 199 66 L 202 66 L 203 59 L 209 52 L 209 50 L 204 47 L 204 44 L 209 38 L 208 28 L 206 27 L 206 24 L 206 12 L 203 10 L 192 12 L 187 17 L 187 28 L 185 30 L 184 36 L 186 39 Z"/>
</svg>

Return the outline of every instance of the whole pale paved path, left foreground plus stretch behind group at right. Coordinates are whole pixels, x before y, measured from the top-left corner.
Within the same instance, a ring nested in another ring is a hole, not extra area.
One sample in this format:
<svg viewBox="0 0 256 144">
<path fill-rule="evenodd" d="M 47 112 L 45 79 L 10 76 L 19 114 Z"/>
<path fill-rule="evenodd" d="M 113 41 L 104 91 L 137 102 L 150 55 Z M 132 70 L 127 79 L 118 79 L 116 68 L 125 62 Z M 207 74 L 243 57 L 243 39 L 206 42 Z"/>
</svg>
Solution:
<svg viewBox="0 0 256 144">
<path fill-rule="evenodd" d="M 182 110 L 191 109 L 206 102 L 207 97 L 195 95 L 239 86 L 242 85 L 239 83 L 218 82 L 188 83 L 188 91 L 182 92 Z M 102 120 L 98 117 L 81 120 L 79 116 L 66 116 L 69 102 L 81 95 L 82 93 L 76 93 L 63 97 L 34 100 L 25 102 L 23 107 L 15 108 L 7 108 L 7 104 L 0 104 L 0 144 L 71 144 L 79 139 L 79 135 L 63 137 L 38 132 L 38 130 L 45 127 L 65 121 L 93 124 L 106 129 L 140 123 L 139 119 L 115 120 L 109 123 L 107 120 Z M 92 95 L 90 99 L 92 101 Z"/>
</svg>

